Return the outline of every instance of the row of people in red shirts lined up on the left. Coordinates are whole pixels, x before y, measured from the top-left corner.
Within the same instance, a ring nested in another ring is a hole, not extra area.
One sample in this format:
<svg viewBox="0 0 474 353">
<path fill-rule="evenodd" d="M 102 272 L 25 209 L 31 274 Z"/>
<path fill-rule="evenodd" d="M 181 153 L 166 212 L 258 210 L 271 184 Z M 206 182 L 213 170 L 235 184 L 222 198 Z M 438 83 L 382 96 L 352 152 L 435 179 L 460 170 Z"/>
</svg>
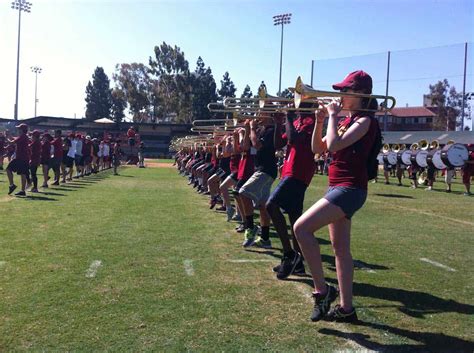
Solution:
<svg viewBox="0 0 474 353">
<path fill-rule="evenodd" d="M 109 168 L 117 174 L 123 156 L 120 140 L 99 140 L 81 133 L 63 136 L 61 130 L 55 130 L 54 135 L 48 131 L 28 132 L 28 125 L 24 123 L 16 128 L 16 137 L 0 133 L 0 170 L 3 170 L 6 158 L 9 195 L 17 189 L 14 173 L 20 176 L 20 190 L 14 195 L 20 197 L 26 196 L 27 191 L 39 192 L 39 187 L 60 185 Z M 41 174 L 38 176 L 40 166 Z M 42 179 L 41 186 L 39 179 Z"/>
</svg>

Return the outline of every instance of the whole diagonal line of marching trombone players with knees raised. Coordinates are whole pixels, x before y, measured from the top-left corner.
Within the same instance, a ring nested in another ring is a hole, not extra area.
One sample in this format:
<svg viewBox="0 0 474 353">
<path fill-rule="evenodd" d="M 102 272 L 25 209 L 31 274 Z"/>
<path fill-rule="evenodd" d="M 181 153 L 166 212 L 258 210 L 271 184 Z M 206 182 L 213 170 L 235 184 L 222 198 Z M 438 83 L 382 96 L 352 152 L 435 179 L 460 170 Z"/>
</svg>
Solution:
<svg viewBox="0 0 474 353">
<path fill-rule="evenodd" d="M 356 71 L 333 88 L 370 94 L 372 79 L 367 73 Z M 342 104 L 350 114 L 339 121 Z M 376 158 L 380 146 L 371 157 L 373 148 L 381 145 L 376 109 L 375 99 L 346 96 L 316 113 L 261 112 L 258 119 L 246 120 L 231 136 L 223 136 L 215 144 L 184 147 L 175 156 L 177 168 L 189 178 L 189 184 L 209 195 L 210 208 L 222 203 L 219 209 L 226 212 L 227 220 L 240 221 L 236 230 L 244 233 L 243 247 L 270 248 L 273 224 L 283 247 L 281 263 L 273 268 L 278 279 L 304 274 L 305 265 L 309 266 L 314 282 L 312 321 L 357 320 L 352 304 L 351 219 L 366 200 L 368 162 Z M 323 136 L 326 119 L 327 132 Z M 278 175 L 276 151 L 281 149 L 286 149 L 286 154 L 280 180 L 271 191 Z M 315 163 L 315 155 L 317 160 L 321 156 L 322 163 Z M 327 193 L 304 211 L 305 192 L 316 169 L 324 172 L 327 162 Z M 259 234 L 254 223 L 255 209 L 260 215 Z M 314 237 L 326 225 L 335 253 L 339 289 L 324 279 L 319 244 Z M 340 302 L 331 308 L 337 296 Z"/>
</svg>

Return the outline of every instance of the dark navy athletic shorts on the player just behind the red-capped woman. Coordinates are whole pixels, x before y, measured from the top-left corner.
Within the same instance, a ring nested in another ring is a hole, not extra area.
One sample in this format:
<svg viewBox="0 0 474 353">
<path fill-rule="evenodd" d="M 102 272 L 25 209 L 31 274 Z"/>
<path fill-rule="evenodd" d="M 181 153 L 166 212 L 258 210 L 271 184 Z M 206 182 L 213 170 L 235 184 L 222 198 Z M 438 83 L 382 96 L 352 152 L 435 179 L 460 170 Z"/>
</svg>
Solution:
<svg viewBox="0 0 474 353">
<path fill-rule="evenodd" d="M 277 205 L 288 214 L 301 215 L 307 188 L 308 186 L 301 180 L 284 177 L 273 190 L 268 202 Z"/>
</svg>

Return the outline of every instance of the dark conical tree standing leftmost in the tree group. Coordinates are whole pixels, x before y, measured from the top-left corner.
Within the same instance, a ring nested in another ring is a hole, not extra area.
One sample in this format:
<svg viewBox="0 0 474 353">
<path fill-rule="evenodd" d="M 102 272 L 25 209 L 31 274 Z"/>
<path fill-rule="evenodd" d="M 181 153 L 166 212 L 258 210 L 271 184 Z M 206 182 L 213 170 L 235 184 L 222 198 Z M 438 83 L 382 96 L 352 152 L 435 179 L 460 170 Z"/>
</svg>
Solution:
<svg viewBox="0 0 474 353">
<path fill-rule="evenodd" d="M 110 81 L 102 67 L 96 67 L 86 87 L 86 119 L 96 120 L 110 117 L 112 96 Z"/>
</svg>

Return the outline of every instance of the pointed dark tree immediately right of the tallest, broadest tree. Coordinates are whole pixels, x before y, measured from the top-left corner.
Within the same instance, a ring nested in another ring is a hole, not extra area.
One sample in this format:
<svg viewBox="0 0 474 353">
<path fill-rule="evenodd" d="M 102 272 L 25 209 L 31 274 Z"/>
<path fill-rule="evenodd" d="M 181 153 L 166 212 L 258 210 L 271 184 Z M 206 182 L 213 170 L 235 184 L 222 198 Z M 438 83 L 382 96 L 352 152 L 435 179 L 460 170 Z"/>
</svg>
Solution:
<svg viewBox="0 0 474 353">
<path fill-rule="evenodd" d="M 205 68 L 201 57 L 196 62 L 196 70 L 192 77 L 192 119 L 210 119 L 211 112 L 207 105 L 217 100 L 216 81 L 211 68 Z"/>
</svg>

